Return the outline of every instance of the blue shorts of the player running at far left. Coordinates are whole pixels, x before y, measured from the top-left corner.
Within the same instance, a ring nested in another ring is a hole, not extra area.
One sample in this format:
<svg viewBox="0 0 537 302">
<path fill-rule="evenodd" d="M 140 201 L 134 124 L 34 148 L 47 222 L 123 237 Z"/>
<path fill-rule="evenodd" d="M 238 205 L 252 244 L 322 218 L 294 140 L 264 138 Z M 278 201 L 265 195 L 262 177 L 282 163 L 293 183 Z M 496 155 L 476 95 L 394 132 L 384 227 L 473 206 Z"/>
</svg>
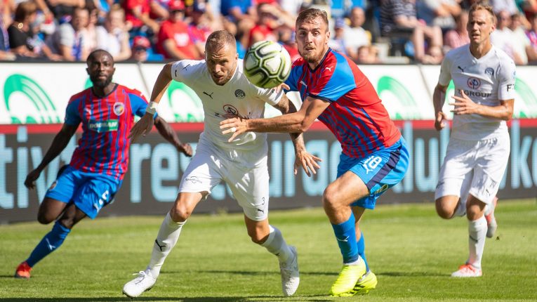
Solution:
<svg viewBox="0 0 537 302">
<path fill-rule="evenodd" d="M 89 218 L 97 217 L 100 209 L 110 204 L 121 187 L 122 180 L 100 173 L 88 173 L 67 166 L 48 188 L 45 197 L 74 203 Z"/>
</svg>

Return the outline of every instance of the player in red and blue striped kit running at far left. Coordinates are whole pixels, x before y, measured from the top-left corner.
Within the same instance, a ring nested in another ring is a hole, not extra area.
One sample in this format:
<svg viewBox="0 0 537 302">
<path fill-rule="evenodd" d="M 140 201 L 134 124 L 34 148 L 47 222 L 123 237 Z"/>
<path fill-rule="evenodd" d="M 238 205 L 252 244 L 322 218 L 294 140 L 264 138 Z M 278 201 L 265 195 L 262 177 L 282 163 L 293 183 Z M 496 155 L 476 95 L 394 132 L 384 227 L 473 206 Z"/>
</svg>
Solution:
<svg viewBox="0 0 537 302">
<path fill-rule="evenodd" d="M 88 56 L 86 71 L 93 86 L 69 100 L 65 123 L 55 136 L 41 164 L 25 180 L 27 188 L 41 171 L 65 149 L 82 124 L 82 136 L 71 162 L 60 171 L 39 206 L 37 221 L 55 221 L 51 232 L 41 239 L 26 261 L 20 263 L 15 277 L 29 278 L 30 270 L 41 259 L 58 249 L 73 226 L 88 216 L 93 219 L 100 209 L 112 202 L 127 171 L 128 134 L 134 116 L 145 114 L 147 100 L 139 91 L 112 82 L 114 60 L 106 51 L 93 51 Z M 161 136 L 179 152 L 192 156 L 192 147 L 183 144 L 164 119 L 154 118 Z"/>
</svg>

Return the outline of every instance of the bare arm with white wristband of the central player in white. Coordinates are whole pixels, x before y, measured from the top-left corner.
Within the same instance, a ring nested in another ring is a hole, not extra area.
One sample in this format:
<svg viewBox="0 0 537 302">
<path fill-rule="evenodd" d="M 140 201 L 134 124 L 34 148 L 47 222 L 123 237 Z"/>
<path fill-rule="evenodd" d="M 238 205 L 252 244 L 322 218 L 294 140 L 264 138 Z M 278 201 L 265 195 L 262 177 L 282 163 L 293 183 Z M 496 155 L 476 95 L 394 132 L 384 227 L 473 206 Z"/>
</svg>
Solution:
<svg viewBox="0 0 537 302">
<path fill-rule="evenodd" d="M 147 133 L 150 133 L 151 129 L 153 128 L 153 117 L 155 112 L 157 112 L 157 105 L 159 105 L 160 99 L 164 95 L 164 92 L 172 80 L 171 65 L 173 65 L 173 63 L 164 65 L 159 73 L 159 77 L 157 77 L 157 81 L 154 82 L 153 90 L 151 91 L 150 103 L 147 106 L 146 113 L 133 126 L 131 133 L 128 135 L 128 138 L 133 142 L 135 142 L 141 135 L 146 136 Z"/>
</svg>

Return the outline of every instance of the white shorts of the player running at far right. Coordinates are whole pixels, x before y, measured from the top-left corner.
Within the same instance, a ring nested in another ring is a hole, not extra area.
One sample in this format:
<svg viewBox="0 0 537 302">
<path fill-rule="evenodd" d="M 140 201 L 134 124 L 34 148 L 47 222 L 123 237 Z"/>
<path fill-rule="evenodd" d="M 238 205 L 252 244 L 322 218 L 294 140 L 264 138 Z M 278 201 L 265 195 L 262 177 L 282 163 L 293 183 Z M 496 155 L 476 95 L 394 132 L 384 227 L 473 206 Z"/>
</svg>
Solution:
<svg viewBox="0 0 537 302">
<path fill-rule="evenodd" d="M 435 199 L 455 195 L 462 202 L 472 195 L 490 204 L 508 164 L 509 134 L 486 140 L 451 138 L 440 169 Z"/>
</svg>

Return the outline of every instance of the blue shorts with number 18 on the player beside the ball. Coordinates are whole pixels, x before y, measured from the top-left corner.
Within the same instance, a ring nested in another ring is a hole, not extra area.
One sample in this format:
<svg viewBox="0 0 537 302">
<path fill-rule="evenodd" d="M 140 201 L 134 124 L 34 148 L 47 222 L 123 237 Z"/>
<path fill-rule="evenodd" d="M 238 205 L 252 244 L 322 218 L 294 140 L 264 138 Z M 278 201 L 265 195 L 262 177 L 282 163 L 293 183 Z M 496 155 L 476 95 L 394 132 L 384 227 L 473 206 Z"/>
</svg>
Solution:
<svg viewBox="0 0 537 302">
<path fill-rule="evenodd" d="M 367 157 L 354 158 L 341 153 L 339 159 L 338 177 L 352 171 L 369 189 L 369 196 L 351 204 L 365 209 L 375 209 L 377 198 L 397 185 L 409 168 L 409 151 L 403 137 L 390 147 L 373 152 Z"/>
</svg>

